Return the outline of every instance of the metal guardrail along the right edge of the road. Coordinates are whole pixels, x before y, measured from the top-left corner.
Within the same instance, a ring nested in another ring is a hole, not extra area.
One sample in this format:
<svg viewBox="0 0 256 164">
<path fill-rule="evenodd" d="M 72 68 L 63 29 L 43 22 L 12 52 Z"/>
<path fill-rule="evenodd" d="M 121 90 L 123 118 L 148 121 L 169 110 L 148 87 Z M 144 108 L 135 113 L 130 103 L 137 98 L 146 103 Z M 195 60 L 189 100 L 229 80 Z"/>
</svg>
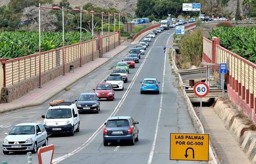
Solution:
<svg viewBox="0 0 256 164">
<path fill-rule="evenodd" d="M 174 56 L 174 53 L 172 54 L 172 58 L 174 58 L 173 56 Z M 174 62 L 174 60 L 173 60 L 173 66 L 175 67 L 176 73 L 178 73 L 178 71 L 180 71 L 180 70 L 178 70 L 178 68 L 177 68 L 176 63 Z M 182 84 L 184 85 L 184 83 L 183 83 L 183 81 L 182 81 L 182 78 L 181 78 L 181 76 L 180 76 L 180 73 L 178 73 L 178 77 L 179 77 L 179 79 L 180 79 L 180 85 L 181 85 L 181 86 L 182 86 Z M 190 107 L 190 111 L 191 111 L 191 113 L 192 113 L 192 115 L 193 115 L 192 117 L 193 117 L 193 119 L 196 121 L 196 123 L 197 123 L 197 125 L 198 125 L 198 127 L 199 127 L 199 132 L 202 133 L 202 134 L 205 134 L 205 133 L 204 133 L 203 124 L 201 123 L 201 121 L 200 121 L 199 118 L 197 117 L 197 114 L 196 114 L 196 112 L 195 112 L 195 110 L 194 110 L 194 107 L 193 107 L 193 105 L 192 105 L 192 103 L 191 103 L 191 101 L 190 101 L 190 99 L 189 99 L 189 97 L 188 97 L 188 95 L 187 95 L 187 93 L 186 93 L 186 91 L 185 91 L 184 89 L 183 89 L 183 94 L 184 94 L 184 96 L 185 96 L 186 99 L 187 99 L 187 103 L 188 103 L 188 105 L 189 105 L 189 107 Z M 210 144 L 209 144 L 209 156 L 210 156 L 210 160 L 212 161 L 213 164 L 219 164 L 219 163 L 217 162 L 216 158 L 215 158 L 215 155 L 213 154 L 213 151 L 212 151 L 212 148 L 211 148 L 211 145 L 210 145 Z"/>
</svg>

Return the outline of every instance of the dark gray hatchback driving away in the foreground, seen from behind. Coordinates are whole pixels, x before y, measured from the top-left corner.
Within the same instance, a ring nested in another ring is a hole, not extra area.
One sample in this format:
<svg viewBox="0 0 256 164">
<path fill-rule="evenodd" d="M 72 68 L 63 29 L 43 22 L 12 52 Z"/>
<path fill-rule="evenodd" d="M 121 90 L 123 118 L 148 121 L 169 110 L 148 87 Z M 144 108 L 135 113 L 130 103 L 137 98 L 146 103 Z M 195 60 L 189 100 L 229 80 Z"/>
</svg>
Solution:
<svg viewBox="0 0 256 164">
<path fill-rule="evenodd" d="M 128 142 L 134 145 L 139 140 L 137 121 L 131 116 L 109 117 L 103 130 L 103 144 Z"/>
</svg>

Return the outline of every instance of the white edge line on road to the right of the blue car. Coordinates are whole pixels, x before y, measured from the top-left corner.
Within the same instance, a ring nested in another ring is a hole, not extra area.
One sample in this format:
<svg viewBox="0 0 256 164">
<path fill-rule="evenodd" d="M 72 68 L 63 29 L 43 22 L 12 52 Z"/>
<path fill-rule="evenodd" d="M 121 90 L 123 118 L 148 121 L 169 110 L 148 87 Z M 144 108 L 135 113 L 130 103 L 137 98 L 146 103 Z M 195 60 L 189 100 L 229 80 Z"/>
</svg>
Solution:
<svg viewBox="0 0 256 164">
<path fill-rule="evenodd" d="M 174 33 L 173 33 L 173 34 L 174 34 Z M 171 34 L 170 37 L 171 37 L 173 34 Z M 170 37 L 168 38 L 167 43 L 168 43 Z M 166 43 L 166 45 L 167 45 L 167 43 Z M 165 76 L 166 53 L 167 53 L 167 51 L 165 51 L 165 56 L 164 56 L 164 71 L 163 71 L 163 85 L 162 85 L 162 90 L 164 90 L 164 76 Z M 161 93 L 161 97 L 163 97 L 163 92 Z M 160 102 L 163 102 L 163 101 L 161 100 Z M 162 103 L 160 103 L 160 104 L 162 104 Z M 160 117 L 161 117 L 161 111 L 162 111 L 162 108 L 160 107 L 160 108 L 159 108 L 159 111 L 158 111 L 157 126 L 155 127 L 155 137 L 154 137 L 154 141 L 153 141 L 153 143 L 152 143 L 150 155 L 149 155 L 149 157 L 148 157 L 148 164 L 151 164 L 151 163 L 152 163 L 152 158 L 153 158 L 153 155 L 154 155 L 155 142 L 156 142 L 156 140 L 157 140 L 157 132 L 158 132 L 158 126 L 159 126 L 159 121 L 160 121 Z"/>
</svg>

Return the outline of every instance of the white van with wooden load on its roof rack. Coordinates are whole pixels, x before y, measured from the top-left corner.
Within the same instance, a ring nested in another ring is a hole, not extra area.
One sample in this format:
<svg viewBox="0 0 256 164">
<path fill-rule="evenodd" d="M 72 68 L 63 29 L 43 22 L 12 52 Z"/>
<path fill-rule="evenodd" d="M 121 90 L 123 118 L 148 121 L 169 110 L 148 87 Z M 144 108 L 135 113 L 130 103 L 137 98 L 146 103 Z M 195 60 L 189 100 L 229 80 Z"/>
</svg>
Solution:
<svg viewBox="0 0 256 164">
<path fill-rule="evenodd" d="M 74 135 L 80 128 L 80 120 L 75 101 L 53 100 L 43 121 L 47 134 L 68 133 Z"/>
</svg>

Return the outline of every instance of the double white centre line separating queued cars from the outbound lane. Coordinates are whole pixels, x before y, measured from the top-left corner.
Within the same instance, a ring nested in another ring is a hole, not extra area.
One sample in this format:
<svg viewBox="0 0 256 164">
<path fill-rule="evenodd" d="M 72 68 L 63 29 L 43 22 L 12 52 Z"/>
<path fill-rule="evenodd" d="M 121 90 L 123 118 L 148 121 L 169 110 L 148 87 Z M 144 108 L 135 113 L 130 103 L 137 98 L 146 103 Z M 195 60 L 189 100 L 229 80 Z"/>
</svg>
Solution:
<svg viewBox="0 0 256 164">
<path fill-rule="evenodd" d="M 164 34 L 164 33 L 162 33 Z M 161 34 L 160 34 L 161 36 Z M 157 37 L 158 39 L 159 37 Z M 152 47 L 154 46 L 155 42 L 157 41 L 157 39 L 155 39 L 154 43 L 152 44 Z M 118 112 L 118 110 L 120 109 L 122 103 L 124 102 L 125 98 L 127 97 L 127 94 L 129 93 L 129 91 L 131 90 L 131 87 L 133 86 L 134 82 L 135 82 L 135 79 L 137 78 L 138 76 L 138 73 L 140 73 L 140 70 L 142 68 L 142 66 L 144 65 L 145 61 L 147 60 L 148 58 L 148 55 L 150 54 L 150 51 L 152 49 L 152 47 L 150 48 L 150 50 L 148 51 L 144 61 L 142 62 L 141 66 L 139 67 L 137 73 L 135 74 L 134 78 L 132 79 L 132 82 L 130 83 L 130 85 L 128 86 L 127 90 L 125 91 L 123 97 L 121 98 L 121 100 L 119 101 L 119 103 L 117 104 L 117 106 L 115 107 L 115 110 L 110 114 L 109 117 L 112 117 L 112 116 L 115 116 L 115 114 Z M 106 121 L 104 121 L 105 123 Z M 56 163 L 59 163 L 60 161 L 63 161 L 65 160 L 66 158 L 70 157 L 71 155 L 74 155 L 76 153 L 78 153 L 79 151 L 81 151 L 83 148 L 85 148 L 87 145 L 89 145 L 94 139 L 95 137 L 101 132 L 101 129 L 102 127 L 104 126 L 104 123 L 91 135 L 91 137 L 85 142 L 83 143 L 81 146 L 79 146 L 78 148 L 76 148 L 75 150 L 73 150 L 71 153 L 68 153 L 68 154 L 65 154 L 65 155 L 62 155 L 58 158 L 55 158 L 52 160 L 52 164 L 56 164 Z"/>
</svg>

